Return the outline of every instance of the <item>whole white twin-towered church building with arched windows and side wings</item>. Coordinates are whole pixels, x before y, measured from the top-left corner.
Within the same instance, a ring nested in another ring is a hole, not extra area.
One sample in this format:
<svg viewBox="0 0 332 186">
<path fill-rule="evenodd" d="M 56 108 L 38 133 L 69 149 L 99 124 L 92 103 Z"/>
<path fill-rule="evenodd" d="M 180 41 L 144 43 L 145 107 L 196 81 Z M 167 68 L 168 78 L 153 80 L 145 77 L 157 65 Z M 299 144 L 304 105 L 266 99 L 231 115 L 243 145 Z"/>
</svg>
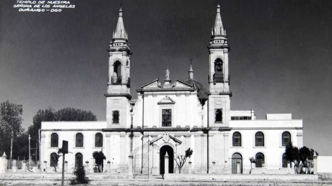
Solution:
<svg viewBox="0 0 332 186">
<path fill-rule="evenodd" d="M 263 163 L 287 167 L 286 144 L 291 141 L 294 146 L 303 146 L 302 120 L 292 119 L 291 114 L 267 114 L 261 120 L 255 118 L 253 110 L 231 110 L 230 47 L 219 5 L 207 51 L 208 88 L 194 79 L 191 66 L 189 78 L 175 78 L 174 83 L 172 69 L 167 69 L 164 79 L 152 80 L 137 90 L 137 100 L 130 94 L 132 53 L 122 13 L 120 8 L 108 48 L 106 121 L 42 122 L 42 162 L 52 166 L 52 153 L 66 140 L 71 152 L 65 157 L 69 165 L 91 162 L 92 153 L 103 150 L 105 162 L 126 164 L 133 160 L 140 166 L 147 164 L 152 174 L 163 174 L 165 166 L 173 173 L 174 157 L 191 148 L 194 152 L 189 161 L 193 165 L 215 162 L 233 167 L 240 162 L 242 166 L 254 157 L 256 167 Z M 166 152 L 168 165 L 164 163 Z"/>
</svg>

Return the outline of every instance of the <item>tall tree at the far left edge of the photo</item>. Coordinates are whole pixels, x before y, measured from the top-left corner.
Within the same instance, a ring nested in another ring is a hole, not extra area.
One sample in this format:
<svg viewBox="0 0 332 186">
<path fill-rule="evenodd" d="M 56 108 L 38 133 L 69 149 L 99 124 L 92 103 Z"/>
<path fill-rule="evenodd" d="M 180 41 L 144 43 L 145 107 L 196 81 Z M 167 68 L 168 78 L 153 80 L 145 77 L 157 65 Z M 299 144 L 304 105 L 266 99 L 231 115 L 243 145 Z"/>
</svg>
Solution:
<svg viewBox="0 0 332 186">
<path fill-rule="evenodd" d="M 0 104 L 0 151 L 6 152 L 7 156 L 10 155 L 10 159 L 17 155 L 11 150 L 11 147 L 16 146 L 13 137 L 24 132 L 21 126 L 22 114 L 22 105 L 10 103 L 8 100 Z"/>
</svg>

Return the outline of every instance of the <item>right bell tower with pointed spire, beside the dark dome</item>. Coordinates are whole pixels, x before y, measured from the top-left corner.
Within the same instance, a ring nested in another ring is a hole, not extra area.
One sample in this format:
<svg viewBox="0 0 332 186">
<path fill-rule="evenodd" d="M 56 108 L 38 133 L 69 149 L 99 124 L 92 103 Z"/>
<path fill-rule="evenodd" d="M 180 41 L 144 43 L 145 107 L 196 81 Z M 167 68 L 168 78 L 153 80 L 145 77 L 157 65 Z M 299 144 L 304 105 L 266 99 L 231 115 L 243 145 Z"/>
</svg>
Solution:
<svg viewBox="0 0 332 186">
<path fill-rule="evenodd" d="M 226 30 L 220 15 L 220 5 L 216 7 L 214 26 L 211 29 L 209 52 L 209 126 L 227 127 L 230 120 L 230 97 L 228 52 L 230 51 Z"/>
</svg>

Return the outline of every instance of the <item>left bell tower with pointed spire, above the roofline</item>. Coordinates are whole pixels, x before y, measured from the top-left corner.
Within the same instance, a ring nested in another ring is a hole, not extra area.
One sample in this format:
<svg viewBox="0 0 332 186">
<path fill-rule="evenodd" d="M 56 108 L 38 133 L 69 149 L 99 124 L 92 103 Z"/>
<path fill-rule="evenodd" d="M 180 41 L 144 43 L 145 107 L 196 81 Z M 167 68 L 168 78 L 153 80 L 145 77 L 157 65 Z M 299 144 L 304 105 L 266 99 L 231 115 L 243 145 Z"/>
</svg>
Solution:
<svg viewBox="0 0 332 186">
<path fill-rule="evenodd" d="M 106 96 L 106 120 L 108 127 L 126 128 L 130 110 L 130 45 L 127 31 L 124 29 L 120 4 L 117 27 L 113 30 L 113 39 L 107 49 L 109 56 L 109 75 Z"/>
</svg>

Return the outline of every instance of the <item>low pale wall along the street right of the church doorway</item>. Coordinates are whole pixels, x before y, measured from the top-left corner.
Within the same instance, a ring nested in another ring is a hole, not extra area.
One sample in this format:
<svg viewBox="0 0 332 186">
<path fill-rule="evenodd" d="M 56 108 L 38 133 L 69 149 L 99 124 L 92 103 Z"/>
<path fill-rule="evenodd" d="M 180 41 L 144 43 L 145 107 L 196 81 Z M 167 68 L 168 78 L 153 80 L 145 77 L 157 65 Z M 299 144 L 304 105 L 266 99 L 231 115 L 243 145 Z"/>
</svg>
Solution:
<svg viewBox="0 0 332 186">
<path fill-rule="evenodd" d="M 165 174 L 165 180 L 216 180 L 216 181 L 318 181 L 318 175 L 275 175 L 275 174 Z"/>
</svg>

